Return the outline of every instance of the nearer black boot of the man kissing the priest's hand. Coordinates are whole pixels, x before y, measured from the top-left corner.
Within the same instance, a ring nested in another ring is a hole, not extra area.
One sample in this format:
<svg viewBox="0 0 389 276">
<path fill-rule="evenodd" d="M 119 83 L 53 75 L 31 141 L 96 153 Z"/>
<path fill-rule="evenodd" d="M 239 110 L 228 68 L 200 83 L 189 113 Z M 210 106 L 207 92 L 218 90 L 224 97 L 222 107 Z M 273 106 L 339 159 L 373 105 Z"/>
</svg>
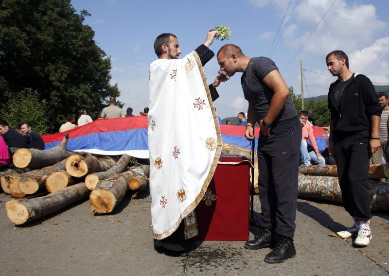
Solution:
<svg viewBox="0 0 389 276">
<path fill-rule="evenodd" d="M 296 256 L 296 248 L 292 238 L 278 235 L 274 249 L 266 255 L 265 262 L 280 263 Z"/>
</svg>

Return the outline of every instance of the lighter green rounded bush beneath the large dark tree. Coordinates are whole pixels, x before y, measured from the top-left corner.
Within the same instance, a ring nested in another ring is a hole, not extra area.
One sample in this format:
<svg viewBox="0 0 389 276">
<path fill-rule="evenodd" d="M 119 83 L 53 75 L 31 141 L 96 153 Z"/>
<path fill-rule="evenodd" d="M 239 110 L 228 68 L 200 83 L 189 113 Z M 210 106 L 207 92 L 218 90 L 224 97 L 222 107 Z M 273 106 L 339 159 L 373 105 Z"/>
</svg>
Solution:
<svg viewBox="0 0 389 276">
<path fill-rule="evenodd" d="M 39 101 L 38 99 L 38 92 L 32 89 L 19 91 L 8 101 L 8 108 L 1 109 L 0 116 L 12 128 L 23 122 L 30 122 L 35 132 L 49 133 L 52 129 L 49 126 L 49 118 L 46 116 L 47 103 L 46 100 Z"/>
</svg>

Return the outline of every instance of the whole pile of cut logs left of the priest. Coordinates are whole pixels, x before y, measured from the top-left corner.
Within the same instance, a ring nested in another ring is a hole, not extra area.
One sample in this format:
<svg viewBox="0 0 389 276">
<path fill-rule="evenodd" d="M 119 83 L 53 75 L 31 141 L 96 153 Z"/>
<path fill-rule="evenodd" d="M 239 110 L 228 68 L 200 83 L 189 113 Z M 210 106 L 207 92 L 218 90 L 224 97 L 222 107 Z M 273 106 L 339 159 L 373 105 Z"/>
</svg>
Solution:
<svg viewBox="0 0 389 276">
<path fill-rule="evenodd" d="M 0 174 L 2 190 L 19 198 L 5 204 L 11 222 L 19 225 L 34 221 L 88 196 L 94 212 L 108 213 L 123 201 L 128 190 L 148 189 L 149 165 L 141 165 L 129 155 L 116 162 L 111 157 L 76 154 L 66 150 L 67 142 L 66 135 L 50 150 L 15 152 L 13 163 L 17 168 Z M 132 166 L 134 163 L 137 166 Z M 43 191 L 44 196 L 37 195 Z"/>
</svg>

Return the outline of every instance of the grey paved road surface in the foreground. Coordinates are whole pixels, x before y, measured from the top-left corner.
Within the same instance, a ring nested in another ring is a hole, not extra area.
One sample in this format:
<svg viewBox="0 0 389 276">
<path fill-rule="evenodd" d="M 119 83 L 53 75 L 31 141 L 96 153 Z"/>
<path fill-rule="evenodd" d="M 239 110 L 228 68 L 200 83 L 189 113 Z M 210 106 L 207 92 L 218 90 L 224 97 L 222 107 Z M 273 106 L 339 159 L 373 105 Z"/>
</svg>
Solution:
<svg viewBox="0 0 389 276">
<path fill-rule="evenodd" d="M 299 199 L 297 256 L 267 264 L 263 259 L 269 249 L 246 250 L 244 242 L 198 242 L 186 258 L 158 254 L 153 249 L 148 194 L 133 199 L 128 194 L 110 215 L 94 215 L 87 200 L 20 227 L 6 216 L 5 202 L 11 198 L 0 194 L 0 275 L 389 274 L 389 214 L 374 214 L 371 244 L 355 248 L 351 239 L 332 236 L 352 224 L 343 207 Z M 260 209 L 257 196 L 255 208 Z"/>
</svg>

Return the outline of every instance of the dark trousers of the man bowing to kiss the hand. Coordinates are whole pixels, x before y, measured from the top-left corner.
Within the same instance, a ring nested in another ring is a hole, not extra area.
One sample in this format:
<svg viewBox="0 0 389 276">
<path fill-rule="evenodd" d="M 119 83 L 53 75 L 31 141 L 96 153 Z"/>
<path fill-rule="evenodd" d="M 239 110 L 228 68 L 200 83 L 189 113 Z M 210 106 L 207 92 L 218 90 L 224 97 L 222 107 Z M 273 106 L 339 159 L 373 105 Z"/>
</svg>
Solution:
<svg viewBox="0 0 389 276">
<path fill-rule="evenodd" d="M 296 229 L 301 132 L 296 116 L 279 122 L 270 136 L 260 135 L 258 140 L 259 224 L 289 238 Z"/>
</svg>

